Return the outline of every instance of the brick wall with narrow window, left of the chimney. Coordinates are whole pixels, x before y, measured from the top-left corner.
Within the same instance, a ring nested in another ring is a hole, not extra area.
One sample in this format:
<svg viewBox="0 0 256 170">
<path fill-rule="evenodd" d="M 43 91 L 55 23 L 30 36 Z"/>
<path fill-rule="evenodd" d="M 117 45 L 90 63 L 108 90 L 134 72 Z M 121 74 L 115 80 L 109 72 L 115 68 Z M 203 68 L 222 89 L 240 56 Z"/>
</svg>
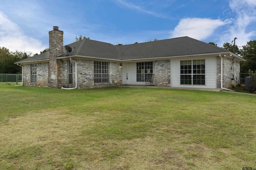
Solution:
<svg viewBox="0 0 256 170">
<path fill-rule="evenodd" d="M 23 66 L 23 86 L 40 86 L 48 87 L 48 63 L 36 64 L 36 83 L 30 82 L 30 64 L 24 64 Z"/>
</svg>

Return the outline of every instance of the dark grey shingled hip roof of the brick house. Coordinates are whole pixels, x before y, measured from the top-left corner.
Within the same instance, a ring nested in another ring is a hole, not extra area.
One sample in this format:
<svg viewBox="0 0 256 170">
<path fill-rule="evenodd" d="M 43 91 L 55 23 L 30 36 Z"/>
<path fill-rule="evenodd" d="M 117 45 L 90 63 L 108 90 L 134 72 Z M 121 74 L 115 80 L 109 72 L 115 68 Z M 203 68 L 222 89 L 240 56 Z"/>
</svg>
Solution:
<svg viewBox="0 0 256 170">
<path fill-rule="evenodd" d="M 57 58 L 92 57 L 125 61 L 230 53 L 230 51 L 223 48 L 204 43 L 190 37 L 178 37 L 122 46 L 116 46 L 110 43 L 94 41 L 91 39 L 83 39 L 71 43 L 68 46 L 72 49 L 74 48 L 74 50 L 70 53 L 66 53 L 66 50 L 64 50 L 64 54 Z M 49 60 L 49 54 L 49 52 L 42 53 L 16 63 Z M 241 61 L 244 61 L 244 59 L 238 55 L 233 53 L 232 55 L 236 56 L 238 59 L 240 58 Z"/>
</svg>

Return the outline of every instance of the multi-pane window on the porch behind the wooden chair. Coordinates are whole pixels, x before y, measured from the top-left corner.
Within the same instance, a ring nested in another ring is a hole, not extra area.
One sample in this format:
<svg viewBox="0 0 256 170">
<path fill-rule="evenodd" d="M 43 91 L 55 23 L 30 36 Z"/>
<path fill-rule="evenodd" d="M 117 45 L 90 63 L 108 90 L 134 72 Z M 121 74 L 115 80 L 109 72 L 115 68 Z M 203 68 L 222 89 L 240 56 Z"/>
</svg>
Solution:
<svg viewBox="0 0 256 170">
<path fill-rule="evenodd" d="M 151 79 L 153 74 L 153 62 L 137 63 L 137 82 L 145 82 Z"/>
</svg>

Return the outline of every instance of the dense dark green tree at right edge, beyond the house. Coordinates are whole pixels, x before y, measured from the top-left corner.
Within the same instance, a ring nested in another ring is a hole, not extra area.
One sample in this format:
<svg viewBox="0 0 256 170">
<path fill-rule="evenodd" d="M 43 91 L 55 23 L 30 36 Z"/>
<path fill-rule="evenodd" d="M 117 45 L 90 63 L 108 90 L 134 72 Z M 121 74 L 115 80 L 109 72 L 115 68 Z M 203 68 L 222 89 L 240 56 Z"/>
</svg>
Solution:
<svg viewBox="0 0 256 170">
<path fill-rule="evenodd" d="M 241 49 L 241 55 L 246 61 L 241 63 L 240 72 L 256 71 L 256 40 L 248 41 Z"/>
</svg>

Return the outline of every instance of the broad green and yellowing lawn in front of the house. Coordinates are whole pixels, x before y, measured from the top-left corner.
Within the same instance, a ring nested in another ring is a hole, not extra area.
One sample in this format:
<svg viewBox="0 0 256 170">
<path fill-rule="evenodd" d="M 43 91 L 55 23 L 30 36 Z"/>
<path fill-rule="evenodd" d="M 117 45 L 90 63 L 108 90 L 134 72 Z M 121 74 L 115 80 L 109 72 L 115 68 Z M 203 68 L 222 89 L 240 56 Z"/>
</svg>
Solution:
<svg viewBox="0 0 256 170">
<path fill-rule="evenodd" d="M 0 83 L 0 169 L 253 169 L 255 122 L 256 95 Z"/>
</svg>

